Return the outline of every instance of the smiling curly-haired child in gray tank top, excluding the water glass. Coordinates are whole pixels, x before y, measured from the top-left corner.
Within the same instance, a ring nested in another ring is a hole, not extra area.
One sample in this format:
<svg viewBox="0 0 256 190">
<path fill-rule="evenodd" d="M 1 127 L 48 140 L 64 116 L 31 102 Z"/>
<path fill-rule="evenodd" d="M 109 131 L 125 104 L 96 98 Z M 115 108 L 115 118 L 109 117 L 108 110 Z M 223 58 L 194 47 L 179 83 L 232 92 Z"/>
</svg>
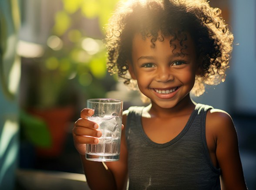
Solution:
<svg viewBox="0 0 256 190">
<path fill-rule="evenodd" d="M 73 129 L 91 189 L 245 190 L 232 118 L 192 102 L 224 82 L 233 36 L 205 0 L 137 0 L 118 7 L 108 28 L 108 71 L 150 100 L 124 112 L 120 160 L 85 159 L 101 131 L 85 108 Z"/>
</svg>

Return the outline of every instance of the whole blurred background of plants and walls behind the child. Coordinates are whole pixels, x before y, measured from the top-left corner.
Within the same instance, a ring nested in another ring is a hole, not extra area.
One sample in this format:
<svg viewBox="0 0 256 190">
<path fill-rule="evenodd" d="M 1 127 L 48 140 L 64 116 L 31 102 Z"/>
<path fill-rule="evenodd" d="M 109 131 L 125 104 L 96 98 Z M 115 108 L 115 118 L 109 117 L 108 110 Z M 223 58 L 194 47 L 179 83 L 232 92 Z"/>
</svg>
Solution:
<svg viewBox="0 0 256 190">
<path fill-rule="evenodd" d="M 86 100 L 143 105 L 106 70 L 104 25 L 117 2 L 0 1 L 0 189 L 44 189 L 47 180 L 55 189 L 84 188 L 71 182 L 85 180 L 71 131 Z M 210 4 L 234 33 L 232 60 L 224 83 L 192 98 L 230 113 L 247 185 L 256 189 L 256 2 Z"/>
</svg>

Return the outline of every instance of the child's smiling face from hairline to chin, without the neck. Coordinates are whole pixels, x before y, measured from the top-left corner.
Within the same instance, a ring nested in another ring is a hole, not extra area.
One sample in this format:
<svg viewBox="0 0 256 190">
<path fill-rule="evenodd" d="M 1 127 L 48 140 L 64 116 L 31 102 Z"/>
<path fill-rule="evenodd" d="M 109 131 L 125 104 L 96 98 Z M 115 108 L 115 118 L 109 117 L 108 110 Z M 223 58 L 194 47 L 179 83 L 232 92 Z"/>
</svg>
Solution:
<svg viewBox="0 0 256 190">
<path fill-rule="evenodd" d="M 173 42 L 176 49 L 170 46 L 170 39 L 172 36 L 165 37 L 162 42 L 157 40 L 152 48 L 149 38 L 144 40 L 136 34 L 129 66 L 140 91 L 162 108 L 172 108 L 185 97 L 189 98 L 199 67 L 195 45 L 188 33 L 183 46 L 179 40 Z M 187 48 L 184 49 L 184 45 Z"/>
</svg>

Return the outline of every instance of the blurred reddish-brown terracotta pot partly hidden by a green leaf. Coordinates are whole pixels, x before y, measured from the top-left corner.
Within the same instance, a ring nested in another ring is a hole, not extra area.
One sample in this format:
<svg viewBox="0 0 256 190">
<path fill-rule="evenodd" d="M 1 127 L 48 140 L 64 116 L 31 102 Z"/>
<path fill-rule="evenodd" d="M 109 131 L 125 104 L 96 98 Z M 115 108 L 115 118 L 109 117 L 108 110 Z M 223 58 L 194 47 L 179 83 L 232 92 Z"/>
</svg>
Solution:
<svg viewBox="0 0 256 190">
<path fill-rule="evenodd" d="M 29 112 L 47 123 L 52 138 L 50 148 L 36 147 L 37 156 L 58 157 L 64 148 L 70 120 L 74 115 L 74 108 L 31 109 Z"/>
</svg>

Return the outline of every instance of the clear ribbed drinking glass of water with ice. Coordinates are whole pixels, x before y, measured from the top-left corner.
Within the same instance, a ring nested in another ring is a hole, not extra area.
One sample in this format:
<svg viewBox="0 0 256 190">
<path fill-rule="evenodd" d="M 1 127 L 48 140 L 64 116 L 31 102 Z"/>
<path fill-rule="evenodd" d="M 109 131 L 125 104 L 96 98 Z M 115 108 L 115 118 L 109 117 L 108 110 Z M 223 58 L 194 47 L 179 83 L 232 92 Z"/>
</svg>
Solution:
<svg viewBox="0 0 256 190">
<path fill-rule="evenodd" d="M 98 123 L 102 132 L 98 144 L 86 144 L 85 157 L 90 161 L 118 161 L 121 143 L 123 101 L 88 99 L 87 108 L 94 110 L 88 120 Z"/>
</svg>

